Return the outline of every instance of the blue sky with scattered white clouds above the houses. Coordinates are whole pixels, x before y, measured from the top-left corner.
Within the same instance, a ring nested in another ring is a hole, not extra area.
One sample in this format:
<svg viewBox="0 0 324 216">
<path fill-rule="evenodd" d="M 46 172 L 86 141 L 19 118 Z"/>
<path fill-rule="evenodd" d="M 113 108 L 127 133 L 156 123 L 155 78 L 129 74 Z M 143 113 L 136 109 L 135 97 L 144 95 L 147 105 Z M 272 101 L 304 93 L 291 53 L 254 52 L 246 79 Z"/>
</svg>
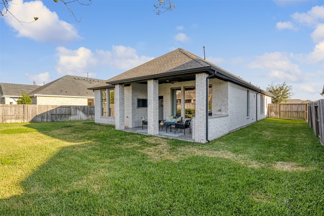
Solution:
<svg viewBox="0 0 324 216">
<path fill-rule="evenodd" d="M 323 99 L 324 1 L 173 0 L 173 11 L 156 15 L 157 3 L 73 3 L 76 22 L 61 2 L 11 1 L 20 21 L 39 19 L 0 18 L 0 82 L 108 79 L 177 48 L 204 58 L 205 46 L 206 60 L 261 89 L 285 81 L 293 99 Z"/>
</svg>

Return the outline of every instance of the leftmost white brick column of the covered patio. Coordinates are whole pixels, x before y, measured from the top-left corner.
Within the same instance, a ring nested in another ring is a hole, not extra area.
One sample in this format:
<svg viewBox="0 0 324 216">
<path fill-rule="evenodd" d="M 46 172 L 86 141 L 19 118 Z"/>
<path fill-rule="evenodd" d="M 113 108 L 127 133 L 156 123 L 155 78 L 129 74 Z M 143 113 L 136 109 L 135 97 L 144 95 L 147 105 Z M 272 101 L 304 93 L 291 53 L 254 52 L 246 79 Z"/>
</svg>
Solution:
<svg viewBox="0 0 324 216">
<path fill-rule="evenodd" d="M 124 85 L 115 84 L 115 128 L 125 129 L 125 97 Z"/>
</svg>

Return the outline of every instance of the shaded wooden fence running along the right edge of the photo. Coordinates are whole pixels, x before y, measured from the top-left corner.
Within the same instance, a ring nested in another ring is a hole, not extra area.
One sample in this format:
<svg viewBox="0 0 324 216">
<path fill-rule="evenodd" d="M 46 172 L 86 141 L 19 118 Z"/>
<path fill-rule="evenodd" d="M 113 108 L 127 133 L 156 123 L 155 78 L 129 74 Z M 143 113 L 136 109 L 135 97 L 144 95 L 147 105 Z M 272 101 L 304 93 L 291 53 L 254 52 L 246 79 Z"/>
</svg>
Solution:
<svg viewBox="0 0 324 216">
<path fill-rule="evenodd" d="M 308 103 L 308 124 L 324 145 L 324 99 Z"/>
</svg>

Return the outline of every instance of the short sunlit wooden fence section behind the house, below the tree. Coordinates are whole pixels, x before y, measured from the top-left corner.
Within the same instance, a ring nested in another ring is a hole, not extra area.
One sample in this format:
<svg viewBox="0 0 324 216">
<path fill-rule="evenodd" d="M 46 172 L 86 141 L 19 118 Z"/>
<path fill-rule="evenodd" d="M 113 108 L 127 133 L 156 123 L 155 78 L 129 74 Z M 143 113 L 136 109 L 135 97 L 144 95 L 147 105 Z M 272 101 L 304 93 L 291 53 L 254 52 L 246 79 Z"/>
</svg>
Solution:
<svg viewBox="0 0 324 216">
<path fill-rule="evenodd" d="M 307 104 L 269 104 L 269 118 L 307 119 Z"/>
</svg>

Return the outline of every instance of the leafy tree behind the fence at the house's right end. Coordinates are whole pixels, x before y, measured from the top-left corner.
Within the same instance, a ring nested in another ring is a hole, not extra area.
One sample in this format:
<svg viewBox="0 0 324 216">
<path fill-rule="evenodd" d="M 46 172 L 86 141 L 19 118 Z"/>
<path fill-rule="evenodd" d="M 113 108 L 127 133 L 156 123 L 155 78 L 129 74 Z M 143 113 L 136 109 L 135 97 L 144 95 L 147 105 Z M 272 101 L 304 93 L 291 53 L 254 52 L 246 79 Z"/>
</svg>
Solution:
<svg viewBox="0 0 324 216">
<path fill-rule="evenodd" d="M 292 93 L 292 86 L 287 85 L 286 82 L 282 84 L 271 84 L 266 88 L 267 92 L 272 94 L 274 97 L 272 98 L 273 104 L 280 104 L 288 101 L 294 94 Z"/>
</svg>

